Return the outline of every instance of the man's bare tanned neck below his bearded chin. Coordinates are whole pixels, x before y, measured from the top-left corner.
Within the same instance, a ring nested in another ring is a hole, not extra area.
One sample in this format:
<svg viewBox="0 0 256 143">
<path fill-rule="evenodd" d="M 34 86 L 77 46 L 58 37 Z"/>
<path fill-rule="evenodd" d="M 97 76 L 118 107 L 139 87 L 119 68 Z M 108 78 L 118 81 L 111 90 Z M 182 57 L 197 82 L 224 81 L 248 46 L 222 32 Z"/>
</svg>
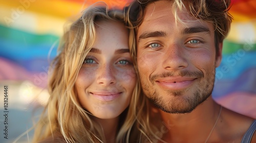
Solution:
<svg viewBox="0 0 256 143">
<path fill-rule="evenodd" d="M 169 130 L 163 140 L 167 142 L 205 142 L 218 119 L 221 106 L 211 96 L 195 110 L 185 114 L 160 111 Z"/>
</svg>

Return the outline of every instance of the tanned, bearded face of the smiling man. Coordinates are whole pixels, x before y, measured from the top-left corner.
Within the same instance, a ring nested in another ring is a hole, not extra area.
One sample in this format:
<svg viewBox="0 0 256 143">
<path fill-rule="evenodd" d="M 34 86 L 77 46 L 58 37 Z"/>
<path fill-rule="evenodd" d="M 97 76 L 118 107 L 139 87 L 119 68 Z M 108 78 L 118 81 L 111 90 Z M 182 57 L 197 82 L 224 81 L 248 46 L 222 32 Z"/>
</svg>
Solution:
<svg viewBox="0 0 256 143">
<path fill-rule="evenodd" d="M 176 23 L 172 10 L 166 1 L 146 7 L 137 31 L 138 69 L 154 104 L 165 112 L 188 113 L 211 95 L 221 53 L 216 55 L 211 23 L 185 9 L 177 11 L 184 24 Z"/>
</svg>

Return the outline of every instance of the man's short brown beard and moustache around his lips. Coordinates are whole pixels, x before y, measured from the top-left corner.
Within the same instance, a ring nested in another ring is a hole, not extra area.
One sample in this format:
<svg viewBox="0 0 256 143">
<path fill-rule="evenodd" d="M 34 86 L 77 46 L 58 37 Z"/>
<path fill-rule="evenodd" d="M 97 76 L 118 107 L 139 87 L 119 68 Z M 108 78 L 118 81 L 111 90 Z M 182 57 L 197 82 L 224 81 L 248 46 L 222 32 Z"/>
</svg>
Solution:
<svg viewBox="0 0 256 143">
<path fill-rule="evenodd" d="M 170 98 L 167 101 L 164 100 L 163 95 L 161 95 L 156 88 L 154 88 L 154 91 L 148 90 L 150 89 L 150 86 L 146 85 L 148 89 L 143 88 L 143 91 L 147 91 L 146 96 L 148 97 L 148 99 L 150 99 L 152 103 L 154 103 L 159 109 L 163 110 L 164 112 L 190 113 L 211 95 L 212 90 L 214 88 L 215 67 L 211 71 L 212 72 L 207 73 L 206 77 L 204 76 L 202 71 L 191 72 L 184 70 L 178 74 L 179 76 L 197 77 L 197 80 L 199 82 L 198 86 L 194 86 L 195 91 L 191 93 L 191 95 L 186 95 L 186 97 L 184 97 L 183 94 L 193 89 L 186 88 L 176 91 L 166 90 L 163 92 L 163 94 L 165 94 L 165 96 L 172 96 L 172 98 Z M 150 81 L 154 86 L 155 83 L 153 81 L 158 77 L 164 78 L 172 75 L 172 73 L 163 73 L 161 75 L 155 75 L 152 76 L 153 78 L 150 77 Z"/>
</svg>

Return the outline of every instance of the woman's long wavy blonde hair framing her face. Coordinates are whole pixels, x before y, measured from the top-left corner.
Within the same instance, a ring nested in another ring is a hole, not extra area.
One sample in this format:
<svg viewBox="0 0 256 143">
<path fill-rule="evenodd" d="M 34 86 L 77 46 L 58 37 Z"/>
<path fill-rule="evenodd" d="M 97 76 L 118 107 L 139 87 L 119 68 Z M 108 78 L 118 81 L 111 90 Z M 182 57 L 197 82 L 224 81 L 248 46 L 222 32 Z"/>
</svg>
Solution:
<svg viewBox="0 0 256 143">
<path fill-rule="evenodd" d="M 49 70 L 52 71 L 49 79 L 50 98 L 36 125 L 33 142 L 56 135 L 60 135 L 66 142 L 105 140 L 100 125 L 79 104 L 74 86 L 84 58 L 95 41 L 95 21 L 120 21 L 126 25 L 123 11 L 109 10 L 106 6 L 91 6 L 72 23 L 60 41 L 59 54 Z M 129 29 L 129 48 L 132 55 L 135 53 L 135 43 L 134 31 Z M 120 115 L 116 142 L 138 141 L 140 133 L 135 125 L 136 114 L 148 114 L 144 110 L 147 110 L 147 104 L 145 97 L 141 95 L 138 80 L 130 106 Z"/>
</svg>

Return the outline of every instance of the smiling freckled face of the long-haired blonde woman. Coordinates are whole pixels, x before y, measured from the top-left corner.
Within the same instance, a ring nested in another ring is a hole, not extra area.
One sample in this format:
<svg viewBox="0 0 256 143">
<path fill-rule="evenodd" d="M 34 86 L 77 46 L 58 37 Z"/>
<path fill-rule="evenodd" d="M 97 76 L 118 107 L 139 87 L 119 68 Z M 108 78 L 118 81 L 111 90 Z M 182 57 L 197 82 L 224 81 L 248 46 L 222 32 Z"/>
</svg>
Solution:
<svg viewBox="0 0 256 143">
<path fill-rule="evenodd" d="M 95 23 L 96 41 L 75 87 L 82 107 L 98 118 L 115 118 L 130 104 L 136 84 L 128 31 L 121 22 Z"/>
</svg>

